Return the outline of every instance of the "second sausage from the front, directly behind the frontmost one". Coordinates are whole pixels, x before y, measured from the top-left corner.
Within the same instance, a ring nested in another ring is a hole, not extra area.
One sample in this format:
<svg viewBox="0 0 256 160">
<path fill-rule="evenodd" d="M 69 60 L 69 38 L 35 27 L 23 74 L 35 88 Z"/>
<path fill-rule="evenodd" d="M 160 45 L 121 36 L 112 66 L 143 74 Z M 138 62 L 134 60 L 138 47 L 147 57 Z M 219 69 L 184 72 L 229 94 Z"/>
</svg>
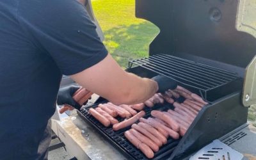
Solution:
<svg viewBox="0 0 256 160">
<path fill-rule="evenodd" d="M 138 138 L 142 143 L 145 143 L 150 147 L 154 152 L 157 152 L 159 150 L 159 147 L 154 143 L 154 141 L 147 138 L 147 136 L 144 136 L 140 132 L 136 131 L 135 129 L 129 130 L 136 138 Z"/>
</svg>

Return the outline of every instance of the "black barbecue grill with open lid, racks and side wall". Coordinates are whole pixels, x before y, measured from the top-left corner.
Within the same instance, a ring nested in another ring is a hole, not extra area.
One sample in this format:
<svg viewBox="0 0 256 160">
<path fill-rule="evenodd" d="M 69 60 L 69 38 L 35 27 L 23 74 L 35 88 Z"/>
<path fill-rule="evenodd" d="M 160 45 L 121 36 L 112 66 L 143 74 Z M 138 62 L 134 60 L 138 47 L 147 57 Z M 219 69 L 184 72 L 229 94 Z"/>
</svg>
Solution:
<svg viewBox="0 0 256 160">
<path fill-rule="evenodd" d="M 149 78 L 157 74 L 169 77 L 209 102 L 186 134 L 179 140 L 169 138 L 154 159 L 187 159 L 213 140 L 222 137 L 223 143 L 232 145 L 248 135 L 242 131 L 247 125 L 247 107 L 256 102 L 256 29 L 243 22 L 250 2 L 136 0 L 136 17 L 154 23 L 160 33 L 149 46 L 149 56 L 129 61 L 127 72 Z M 97 100 L 104 102 L 101 97 Z M 82 108 L 79 115 L 129 159 L 147 159 L 124 137 L 129 127 L 113 131 L 88 113 L 97 103 Z M 170 108 L 170 104 L 154 107 L 161 111 Z M 151 110 L 145 110 L 146 118 Z M 199 159 L 209 157 L 211 154 L 205 154 Z"/>
</svg>

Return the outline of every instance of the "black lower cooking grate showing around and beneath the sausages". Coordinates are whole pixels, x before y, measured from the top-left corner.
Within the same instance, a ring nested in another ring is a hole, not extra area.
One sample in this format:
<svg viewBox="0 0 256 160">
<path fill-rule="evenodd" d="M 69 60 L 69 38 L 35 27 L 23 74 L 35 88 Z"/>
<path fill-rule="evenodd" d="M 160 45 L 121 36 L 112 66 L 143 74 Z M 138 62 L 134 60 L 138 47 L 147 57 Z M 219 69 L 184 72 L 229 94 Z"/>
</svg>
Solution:
<svg viewBox="0 0 256 160">
<path fill-rule="evenodd" d="M 129 159 L 147 159 L 147 157 L 144 156 L 144 154 L 138 150 L 136 147 L 134 147 L 124 136 L 124 132 L 130 129 L 131 127 L 127 127 L 125 129 L 121 129 L 120 131 L 113 131 L 112 127 L 104 127 L 104 125 L 100 124 L 98 120 L 96 120 L 90 113 L 88 112 L 89 108 L 96 108 L 98 104 L 95 104 L 93 106 L 90 106 L 88 108 L 82 108 L 79 114 L 84 120 L 95 126 L 95 129 L 97 129 L 101 134 L 103 134 L 108 140 L 113 143 L 115 147 L 120 149 L 126 156 L 129 157 Z M 165 111 L 168 109 L 172 109 L 172 106 L 166 104 L 163 106 L 163 104 L 160 106 L 155 106 L 154 109 L 158 109 L 161 111 Z M 150 116 L 150 111 L 152 111 L 151 108 L 144 109 L 146 112 L 146 115 L 144 118 L 147 118 Z M 123 118 L 118 118 L 118 121 L 124 120 Z M 168 138 L 168 141 L 165 145 L 163 145 L 161 148 L 159 148 L 159 151 L 155 153 L 154 160 L 157 159 L 167 159 L 170 157 L 170 154 L 172 154 L 173 150 L 179 143 L 179 140 L 173 140 L 172 138 Z"/>
</svg>

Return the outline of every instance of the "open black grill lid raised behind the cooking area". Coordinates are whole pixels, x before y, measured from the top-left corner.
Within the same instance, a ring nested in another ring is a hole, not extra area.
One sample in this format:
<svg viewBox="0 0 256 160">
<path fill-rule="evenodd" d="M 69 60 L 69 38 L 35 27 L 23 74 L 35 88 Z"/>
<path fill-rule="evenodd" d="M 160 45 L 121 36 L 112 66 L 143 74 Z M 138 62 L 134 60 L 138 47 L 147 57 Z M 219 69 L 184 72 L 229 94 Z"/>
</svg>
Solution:
<svg viewBox="0 0 256 160">
<path fill-rule="evenodd" d="M 136 17 L 160 29 L 150 55 L 171 54 L 243 76 L 256 52 L 255 6 L 254 0 L 136 0 Z"/>
</svg>

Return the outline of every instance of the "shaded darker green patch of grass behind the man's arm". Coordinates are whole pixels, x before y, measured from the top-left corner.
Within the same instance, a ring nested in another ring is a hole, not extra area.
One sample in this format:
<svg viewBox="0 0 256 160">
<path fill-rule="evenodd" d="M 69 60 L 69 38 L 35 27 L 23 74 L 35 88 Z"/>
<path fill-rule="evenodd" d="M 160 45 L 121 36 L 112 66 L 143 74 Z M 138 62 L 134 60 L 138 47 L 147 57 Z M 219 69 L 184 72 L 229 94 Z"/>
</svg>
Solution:
<svg viewBox="0 0 256 160">
<path fill-rule="evenodd" d="M 158 31 L 149 22 L 118 26 L 104 31 L 104 44 L 115 60 L 127 67 L 129 60 L 148 56 L 148 46 Z"/>
</svg>

